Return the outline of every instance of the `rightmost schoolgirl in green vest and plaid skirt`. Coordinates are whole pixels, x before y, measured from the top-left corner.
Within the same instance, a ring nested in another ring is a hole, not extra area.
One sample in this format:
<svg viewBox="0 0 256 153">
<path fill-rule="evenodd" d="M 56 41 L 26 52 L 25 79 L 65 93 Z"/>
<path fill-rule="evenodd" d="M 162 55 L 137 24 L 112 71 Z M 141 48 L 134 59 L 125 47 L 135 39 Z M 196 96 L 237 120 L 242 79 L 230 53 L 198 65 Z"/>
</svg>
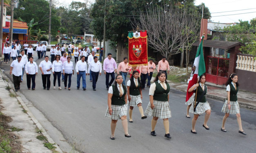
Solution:
<svg viewBox="0 0 256 153">
<path fill-rule="evenodd" d="M 238 92 L 238 76 L 235 73 L 232 73 L 227 80 L 227 100 L 225 101 L 222 112 L 225 113 L 225 116 L 223 117 L 221 131 L 227 132 L 225 129 L 225 122 L 227 121 L 227 118 L 229 117 L 229 114 L 236 114 L 236 120 L 239 126 L 239 133 L 242 133 L 243 135 L 246 135 L 242 128 L 242 122 L 241 122 L 241 116 L 240 116 L 240 109 L 237 102 L 237 92 Z"/>
</svg>

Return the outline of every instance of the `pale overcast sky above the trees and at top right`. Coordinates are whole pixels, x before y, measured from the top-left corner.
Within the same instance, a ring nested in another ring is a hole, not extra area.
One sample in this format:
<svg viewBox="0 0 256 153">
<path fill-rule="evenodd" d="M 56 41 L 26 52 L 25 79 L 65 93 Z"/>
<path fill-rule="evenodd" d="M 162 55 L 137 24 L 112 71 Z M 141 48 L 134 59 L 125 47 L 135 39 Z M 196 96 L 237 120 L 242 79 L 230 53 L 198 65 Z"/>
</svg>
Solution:
<svg viewBox="0 0 256 153">
<path fill-rule="evenodd" d="M 68 6 L 72 1 L 85 2 L 85 0 L 58 0 L 60 4 Z M 88 0 L 94 3 L 95 0 Z M 220 23 L 234 23 L 239 20 L 250 21 L 256 18 L 256 0 L 195 0 L 195 4 L 205 3 L 211 12 L 211 21 Z M 247 10 L 244 10 L 247 9 Z M 242 11 L 237 11 L 242 10 Z M 231 11 L 231 12 L 224 12 Z M 223 12 L 223 13 L 217 13 Z M 249 13 L 254 12 L 254 13 Z M 245 13 L 245 14 L 239 14 Z M 238 14 L 238 15 L 231 15 Z M 226 16 L 220 16 L 226 15 Z M 215 17 L 218 16 L 218 17 Z"/>
</svg>

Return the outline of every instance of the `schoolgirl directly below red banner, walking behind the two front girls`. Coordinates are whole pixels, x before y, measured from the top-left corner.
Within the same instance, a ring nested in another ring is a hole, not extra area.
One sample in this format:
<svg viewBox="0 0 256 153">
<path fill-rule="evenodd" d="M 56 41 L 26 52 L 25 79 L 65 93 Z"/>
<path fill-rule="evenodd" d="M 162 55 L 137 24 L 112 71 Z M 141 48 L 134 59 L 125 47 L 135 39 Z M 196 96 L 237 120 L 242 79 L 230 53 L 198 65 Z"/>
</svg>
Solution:
<svg viewBox="0 0 256 153">
<path fill-rule="evenodd" d="M 141 106 L 142 103 L 142 85 L 139 79 L 139 72 L 133 71 L 131 79 L 127 81 L 127 94 L 129 101 L 129 122 L 133 122 L 132 120 L 132 110 L 134 106 L 138 106 L 140 111 L 141 119 L 147 118 L 147 116 L 143 113 L 143 108 Z"/>
</svg>

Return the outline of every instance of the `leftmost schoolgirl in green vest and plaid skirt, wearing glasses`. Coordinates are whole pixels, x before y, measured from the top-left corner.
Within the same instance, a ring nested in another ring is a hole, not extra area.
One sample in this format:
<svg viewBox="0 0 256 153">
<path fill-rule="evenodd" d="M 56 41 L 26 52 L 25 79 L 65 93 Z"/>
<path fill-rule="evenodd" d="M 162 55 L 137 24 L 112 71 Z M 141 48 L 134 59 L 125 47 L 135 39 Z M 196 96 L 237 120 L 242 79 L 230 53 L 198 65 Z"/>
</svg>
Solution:
<svg viewBox="0 0 256 153">
<path fill-rule="evenodd" d="M 121 75 L 116 76 L 114 85 L 109 87 L 109 92 L 107 95 L 108 108 L 105 114 L 106 118 L 111 119 L 111 140 L 115 140 L 115 129 L 116 122 L 118 119 L 122 120 L 122 126 L 125 131 L 125 137 L 131 137 L 128 133 L 128 123 L 127 123 L 127 89 L 125 85 L 122 84 L 123 78 Z"/>
</svg>

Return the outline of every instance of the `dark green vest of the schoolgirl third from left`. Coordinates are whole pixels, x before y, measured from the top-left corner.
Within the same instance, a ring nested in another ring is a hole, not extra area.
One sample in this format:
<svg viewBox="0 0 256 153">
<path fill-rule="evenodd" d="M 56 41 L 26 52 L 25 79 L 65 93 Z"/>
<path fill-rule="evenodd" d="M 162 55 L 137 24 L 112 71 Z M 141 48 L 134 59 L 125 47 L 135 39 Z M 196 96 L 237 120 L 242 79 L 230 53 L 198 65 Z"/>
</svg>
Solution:
<svg viewBox="0 0 256 153">
<path fill-rule="evenodd" d="M 154 92 L 153 99 L 156 101 L 168 101 L 168 93 L 170 92 L 169 83 L 166 83 L 167 90 L 164 90 L 164 88 L 160 85 L 160 83 L 158 83 L 158 81 L 156 81 L 155 83 L 156 90 Z"/>
</svg>

